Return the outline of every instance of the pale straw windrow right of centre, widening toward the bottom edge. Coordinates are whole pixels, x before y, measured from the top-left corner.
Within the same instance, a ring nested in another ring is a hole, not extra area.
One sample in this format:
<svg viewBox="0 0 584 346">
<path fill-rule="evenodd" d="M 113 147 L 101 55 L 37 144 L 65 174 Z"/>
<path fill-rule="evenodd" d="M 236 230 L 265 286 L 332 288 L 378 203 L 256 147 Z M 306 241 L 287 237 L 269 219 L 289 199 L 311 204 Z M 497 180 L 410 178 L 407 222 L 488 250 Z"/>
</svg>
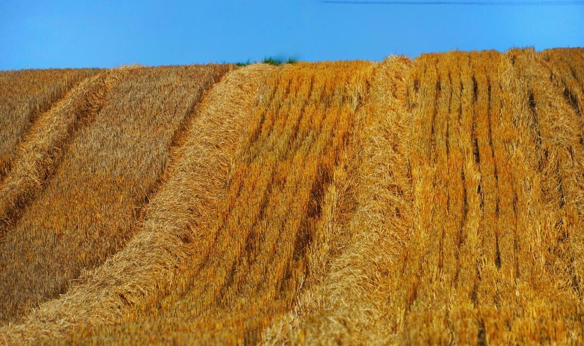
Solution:
<svg viewBox="0 0 584 346">
<path fill-rule="evenodd" d="M 294 310 L 265 330 L 264 344 L 375 344 L 387 337 L 389 311 L 380 293 L 387 268 L 404 245 L 411 214 L 411 117 L 405 104 L 409 68 L 411 63 L 402 57 L 376 66 L 356 115 L 349 177 L 335 179 L 337 184 L 332 185 L 333 191 L 343 191 L 336 186 L 349 181 L 350 192 L 325 199 L 333 210 L 328 218 L 332 231 L 322 243 L 331 244 L 339 236 L 348 241 L 338 255 L 329 254 L 328 272 L 312 278 L 314 284 L 302 293 Z M 351 199 L 356 206 L 347 219 L 342 205 Z"/>
</svg>

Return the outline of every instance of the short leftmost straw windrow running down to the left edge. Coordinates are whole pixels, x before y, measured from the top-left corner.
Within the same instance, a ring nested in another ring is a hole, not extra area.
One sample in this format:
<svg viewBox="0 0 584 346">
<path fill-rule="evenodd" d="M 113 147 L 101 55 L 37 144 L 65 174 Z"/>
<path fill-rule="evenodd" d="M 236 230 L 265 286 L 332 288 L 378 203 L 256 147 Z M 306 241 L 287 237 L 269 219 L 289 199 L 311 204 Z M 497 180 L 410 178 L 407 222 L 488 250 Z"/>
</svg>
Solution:
<svg viewBox="0 0 584 346">
<path fill-rule="evenodd" d="M 10 171 L 0 182 L 0 233 L 6 232 L 23 203 L 54 173 L 74 127 L 95 116 L 103 98 L 124 71 L 108 70 L 86 78 L 30 127 L 13 154 Z"/>
</svg>

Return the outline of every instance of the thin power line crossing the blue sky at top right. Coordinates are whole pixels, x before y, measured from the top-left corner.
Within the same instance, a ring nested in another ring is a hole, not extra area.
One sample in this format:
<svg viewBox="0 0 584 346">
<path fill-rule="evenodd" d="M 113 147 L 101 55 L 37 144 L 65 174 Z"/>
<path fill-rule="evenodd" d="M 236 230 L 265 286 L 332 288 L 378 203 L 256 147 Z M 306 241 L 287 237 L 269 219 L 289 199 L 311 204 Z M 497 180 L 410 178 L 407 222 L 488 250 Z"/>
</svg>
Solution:
<svg viewBox="0 0 584 346">
<path fill-rule="evenodd" d="M 581 6 L 584 1 L 350 1 L 324 0 L 325 4 L 340 5 L 474 5 L 474 6 Z"/>
</svg>

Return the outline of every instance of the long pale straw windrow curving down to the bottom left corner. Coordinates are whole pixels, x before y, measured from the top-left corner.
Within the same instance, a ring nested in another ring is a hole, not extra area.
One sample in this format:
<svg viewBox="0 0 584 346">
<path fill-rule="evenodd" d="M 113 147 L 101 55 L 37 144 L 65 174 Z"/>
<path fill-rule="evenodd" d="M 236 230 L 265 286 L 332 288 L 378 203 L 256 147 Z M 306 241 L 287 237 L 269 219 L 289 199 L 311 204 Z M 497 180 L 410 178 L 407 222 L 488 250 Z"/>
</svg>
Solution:
<svg viewBox="0 0 584 346">
<path fill-rule="evenodd" d="M 136 310 L 173 290 L 175 276 L 193 251 L 189 242 L 206 233 L 217 199 L 225 194 L 232 154 L 249 122 L 256 89 L 271 70 L 253 65 L 231 71 L 194 105 L 158 191 L 142 212 L 140 229 L 124 249 L 22 323 L 0 328 L 0 335 L 10 343 L 78 338 L 91 326 L 131 319 Z"/>
</svg>

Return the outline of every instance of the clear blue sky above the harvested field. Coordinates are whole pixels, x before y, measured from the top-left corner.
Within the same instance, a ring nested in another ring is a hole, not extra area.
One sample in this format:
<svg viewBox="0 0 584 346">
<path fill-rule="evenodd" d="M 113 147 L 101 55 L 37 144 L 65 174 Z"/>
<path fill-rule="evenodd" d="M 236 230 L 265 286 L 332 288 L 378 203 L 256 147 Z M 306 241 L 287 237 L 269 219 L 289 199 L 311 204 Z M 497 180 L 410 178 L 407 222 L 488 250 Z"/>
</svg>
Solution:
<svg viewBox="0 0 584 346">
<path fill-rule="evenodd" d="M 525 46 L 584 46 L 584 6 L 0 1 L 0 70 L 266 56 L 381 60 L 391 54 Z"/>
</svg>

